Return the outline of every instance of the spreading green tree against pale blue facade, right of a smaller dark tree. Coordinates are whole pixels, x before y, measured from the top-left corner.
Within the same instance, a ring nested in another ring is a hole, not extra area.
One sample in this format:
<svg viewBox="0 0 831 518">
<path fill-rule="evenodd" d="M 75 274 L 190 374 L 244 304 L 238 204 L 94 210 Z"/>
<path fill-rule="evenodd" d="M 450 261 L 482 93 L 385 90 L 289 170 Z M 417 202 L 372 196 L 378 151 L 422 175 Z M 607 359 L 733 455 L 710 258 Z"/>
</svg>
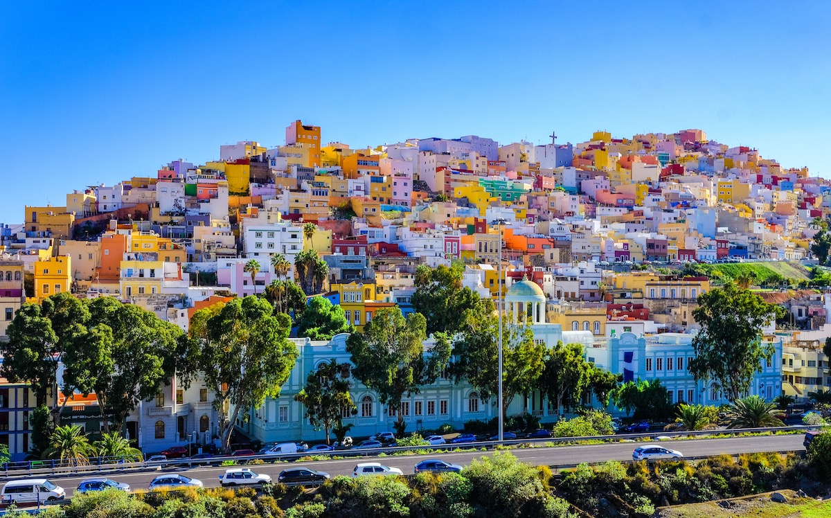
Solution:
<svg viewBox="0 0 831 518">
<path fill-rule="evenodd" d="M 366 323 L 363 333 L 353 333 L 347 340 L 355 377 L 374 390 L 382 404 L 398 413 L 399 423 L 404 422 L 401 398 L 419 393 L 421 385 L 435 382 L 450 358 L 450 341 L 443 333 L 435 335 L 435 345 L 425 352 L 425 328 L 420 313 L 404 318 L 397 306 L 381 308 Z"/>
</svg>

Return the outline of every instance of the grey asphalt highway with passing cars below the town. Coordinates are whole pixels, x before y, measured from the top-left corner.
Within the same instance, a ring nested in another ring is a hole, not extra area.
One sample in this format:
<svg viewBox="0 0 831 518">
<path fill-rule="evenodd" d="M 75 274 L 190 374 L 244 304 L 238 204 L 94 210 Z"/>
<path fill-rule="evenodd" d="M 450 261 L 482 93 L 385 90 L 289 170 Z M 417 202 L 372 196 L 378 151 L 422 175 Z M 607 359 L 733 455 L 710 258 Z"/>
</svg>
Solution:
<svg viewBox="0 0 831 518">
<path fill-rule="evenodd" d="M 686 456 L 710 456 L 721 453 L 755 453 L 760 451 L 799 451 L 803 450 L 803 434 L 790 434 L 781 436 L 756 436 L 756 437 L 730 437 L 721 439 L 696 439 L 682 441 L 661 441 L 661 446 L 681 451 Z M 535 466 L 568 466 L 580 462 L 602 462 L 602 461 L 631 461 L 632 450 L 645 443 L 633 442 L 610 442 L 605 444 L 580 445 L 580 446 L 552 446 L 541 448 L 518 448 L 511 450 L 520 461 L 528 462 Z M 427 458 L 440 458 L 454 464 L 467 466 L 470 461 L 481 456 L 493 455 L 493 451 L 468 451 L 468 452 L 447 452 L 431 456 L 385 456 L 385 457 L 353 457 L 347 460 L 337 461 L 308 461 L 261 464 L 252 466 L 254 471 L 265 473 L 276 481 L 280 471 L 288 466 L 307 466 L 318 471 L 326 471 L 332 476 L 352 475 L 352 469 L 358 462 L 380 461 L 386 466 L 400 468 L 404 473 L 412 473 L 413 466 Z M 203 481 L 205 487 L 219 486 L 219 475 L 229 469 L 228 466 L 194 466 L 193 468 L 165 468 L 158 471 L 130 472 L 124 475 L 108 475 L 109 478 L 130 484 L 132 490 L 146 489 L 156 476 L 163 473 L 181 473 L 192 478 Z M 92 476 L 55 476 L 50 480 L 66 489 L 67 496 L 71 496 L 75 487 L 82 481 Z"/>
</svg>

